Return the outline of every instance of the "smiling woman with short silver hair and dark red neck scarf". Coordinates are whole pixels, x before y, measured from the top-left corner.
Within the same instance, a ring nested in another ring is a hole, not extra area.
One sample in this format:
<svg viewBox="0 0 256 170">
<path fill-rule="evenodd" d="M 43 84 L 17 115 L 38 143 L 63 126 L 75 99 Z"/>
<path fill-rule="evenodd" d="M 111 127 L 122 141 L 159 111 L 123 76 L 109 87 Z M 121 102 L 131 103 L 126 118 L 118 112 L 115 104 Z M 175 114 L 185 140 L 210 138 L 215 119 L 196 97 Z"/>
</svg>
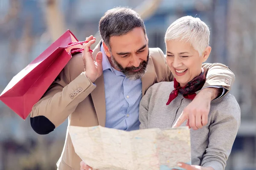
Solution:
<svg viewBox="0 0 256 170">
<path fill-rule="evenodd" d="M 205 82 L 202 63 L 211 52 L 209 28 L 199 18 L 182 17 L 166 31 L 166 61 L 174 82 L 151 86 L 140 102 L 140 128 L 172 127 L 183 109 L 195 98 Z M 225 80 L 224 80 L 225 81 Z M 228 93 L 211 102 L 206 117 L 189 121 L 207 123 L 191 129 L 192 164 L 179 166 L 187 170 L 224 170 L 240 125 L 240 108 Z M 196 166 L 197 165 L 197 166 Z"/>
</svg>

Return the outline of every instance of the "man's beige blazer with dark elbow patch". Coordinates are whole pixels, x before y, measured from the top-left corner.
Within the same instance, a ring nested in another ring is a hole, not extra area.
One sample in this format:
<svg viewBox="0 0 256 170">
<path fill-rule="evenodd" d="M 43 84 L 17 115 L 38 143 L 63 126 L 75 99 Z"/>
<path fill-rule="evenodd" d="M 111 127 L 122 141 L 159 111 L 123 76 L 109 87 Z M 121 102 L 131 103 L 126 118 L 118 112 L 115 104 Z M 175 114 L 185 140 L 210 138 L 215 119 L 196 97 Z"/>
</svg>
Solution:
<svg viewBox="0 0 256 170">
<path fill-rule="evenodd" d="M 96 57 L 100 51 L 102 41 L 93 50 Z M 173 81 L 173 76 L 166 65 L 166 59 L 160 48 L 149 48 L 149 62 L 145 75 L 142 77 L 142 95 L 147 89 L 157 82 Z M 204 87 L 219 85 L 230 90 L 229 82 L 233 82 L 235 76 L 232 71 L 222 64 L 204 64 L 207 73 L 207 81 Z M 84 75 L 82 54 L 76 54 L 61 71 L 42 99 L 34 105 L 31 111 L 31 120 L 44 117 L 58 127 L 68 118 L 68 126 L 105 126 L 106 107 L 103 75 L 96 79 L 93 85 Z M 32 121 L 32 128 L 45 128 L 47 134 L 49 124 L 40 121 Z M 37 132 L 38 133 L 38 132 Z M 66 141 L 57 163 L 58 170 L 80 170 L 81 159 L 75 153 L 70 135 L 67 131 Z"/>
</svg>

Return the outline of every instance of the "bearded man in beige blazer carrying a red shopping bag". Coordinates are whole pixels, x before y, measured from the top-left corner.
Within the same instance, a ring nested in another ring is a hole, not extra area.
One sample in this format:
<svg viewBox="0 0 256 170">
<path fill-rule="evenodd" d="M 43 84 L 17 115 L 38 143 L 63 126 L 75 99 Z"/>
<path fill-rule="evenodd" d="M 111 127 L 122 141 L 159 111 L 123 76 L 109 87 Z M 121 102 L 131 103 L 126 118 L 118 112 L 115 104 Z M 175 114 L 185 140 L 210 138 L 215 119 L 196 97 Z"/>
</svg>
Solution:
<svg viewBox="0 0 256 170">
<path fill-rule="evenodd" d="M 93 53 L 89 49 L 95 40 L 90 36 L 84 52 L 73 56 L 34 105 L 30 119 L 35 132 L 47 134 L 67 118 L 68 126 L 137 130 L 140 99 L 145 91 L 156 82 L 173 80 L 163 51 L 148 48 L 145 25 L 135 11 L 107 11 L 99 22 L 99 31 L 103 41 Z M 234 81 L 232 71 L 225 65 L 205 64 L 204 69 L 208 72 L 204 87 L 219 88 L 204 88 L 184 110 L 184 118 L 195 118 L 196 121 L 189 121 L 194 129 L 203 126 L 202 114 L 209 113 L 211 100 L 221 96 L 219 90 L 223 94 L 229 91 L 230 84 L 225 82 Z M 78 170 L 80 162 L 67 133 L 58 170 Z"/>
</svg>

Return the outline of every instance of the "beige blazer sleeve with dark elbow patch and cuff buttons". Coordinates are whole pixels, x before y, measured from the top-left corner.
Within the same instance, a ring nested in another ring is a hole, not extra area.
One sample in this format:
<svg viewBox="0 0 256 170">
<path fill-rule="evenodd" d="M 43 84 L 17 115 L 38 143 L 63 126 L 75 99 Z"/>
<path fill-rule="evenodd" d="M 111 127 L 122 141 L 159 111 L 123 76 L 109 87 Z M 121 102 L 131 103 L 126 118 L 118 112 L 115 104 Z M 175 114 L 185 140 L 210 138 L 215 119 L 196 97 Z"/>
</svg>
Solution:
<svg viewBox="0 0 256 170">
<path fill-rule="evenodd" d="M 30 113 L 33 130 L 38 134 L 52 132 L 95 88 L 83 72 L 71 81 L 67 64 L 44 96 L 33 106 Z"/>
</svg>

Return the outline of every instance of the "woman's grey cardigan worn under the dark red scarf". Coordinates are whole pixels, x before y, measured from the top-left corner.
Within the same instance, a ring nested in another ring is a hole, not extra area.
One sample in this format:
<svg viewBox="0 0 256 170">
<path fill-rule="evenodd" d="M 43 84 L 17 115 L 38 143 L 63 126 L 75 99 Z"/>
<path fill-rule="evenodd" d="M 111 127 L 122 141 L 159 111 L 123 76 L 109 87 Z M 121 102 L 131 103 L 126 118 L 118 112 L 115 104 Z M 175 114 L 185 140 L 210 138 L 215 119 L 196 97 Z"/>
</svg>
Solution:
<svg viewBox="0 0 256 170">
<path fill-rule="evenodd" d="M 172 90 L 173 82 L 160 82 L 148 89 L 140 102 L 140 129 L 167 128 L 175 124 L 192 100 L 179 94 L 166 105 Z M 211 102 L 207 125 L 190 130 L 192 164 L 224 170 L 240 126 L 240 113 L 236 98 L 230 93 Z"/>
</svg>

